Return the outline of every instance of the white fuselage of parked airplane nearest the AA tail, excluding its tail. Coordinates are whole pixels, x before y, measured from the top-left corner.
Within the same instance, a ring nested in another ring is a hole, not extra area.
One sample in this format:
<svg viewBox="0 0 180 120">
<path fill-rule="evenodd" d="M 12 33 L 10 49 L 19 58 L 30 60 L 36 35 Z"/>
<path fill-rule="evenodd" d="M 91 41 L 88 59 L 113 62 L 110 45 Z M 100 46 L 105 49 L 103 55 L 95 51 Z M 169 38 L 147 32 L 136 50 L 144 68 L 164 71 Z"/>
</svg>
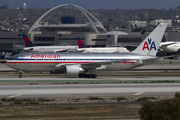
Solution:
<svg viewBox="0 0 180 120">
<path fill-rule="evenodd" d="M 114 52 L 127 53 L 129 52 L 129 50 L 123 47 L 79 48 L 79 49 L 76 49 L 76 51 L 83 52 L 83 53 L 114 53 Z"/>
</svg>

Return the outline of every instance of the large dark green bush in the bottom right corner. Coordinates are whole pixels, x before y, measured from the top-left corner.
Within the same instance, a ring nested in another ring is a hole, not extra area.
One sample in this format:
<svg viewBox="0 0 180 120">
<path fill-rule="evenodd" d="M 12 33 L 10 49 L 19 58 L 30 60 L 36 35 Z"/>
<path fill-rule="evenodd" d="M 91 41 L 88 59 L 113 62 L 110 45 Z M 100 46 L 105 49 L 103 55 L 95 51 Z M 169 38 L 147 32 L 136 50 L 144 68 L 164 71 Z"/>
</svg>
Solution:
<svg viewBox="0 0 180 120">
<path fill-rule="evenodd" d="M 141 120 L 180 120 L 179 113 L 179 99 L 146 102 L 139 111 Z"/>
</svg>

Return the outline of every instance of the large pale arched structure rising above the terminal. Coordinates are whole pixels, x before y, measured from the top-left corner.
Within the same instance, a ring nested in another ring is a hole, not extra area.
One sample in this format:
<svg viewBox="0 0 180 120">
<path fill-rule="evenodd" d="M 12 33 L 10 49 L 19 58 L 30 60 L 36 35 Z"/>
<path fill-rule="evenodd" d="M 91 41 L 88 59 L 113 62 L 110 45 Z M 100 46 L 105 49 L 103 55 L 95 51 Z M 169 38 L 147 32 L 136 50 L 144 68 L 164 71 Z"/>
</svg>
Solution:
<svg viewBox="0 0 180 120">
<path fill-rule="evenodd" d="M 61 8 L 61 7 L 65 7 L 65 6 L 72 6 L 77 8 L 79 11 L 81 11 L 86 18 L 89 20 L 88 23 L 86 24 L 59 24 L 59 25 L 41 25 L 39 24 L 40 21 L 50 12 L 52 12 L 53 10 L 57 9 L 57 8 Z M 92 18 L 92 19 L 91 19 Z M 95 21 L 95 22 L 93 22 Z M 98 21 L 98 19 L 96 17 L 94 17 L 90 12 L 88 12 L 87 10 L 85 10 L 82 7 L 79 7 L 77 5 L 72 5 L 72 4 L 63 4 L 63 5 L 59 5 L 57 7 L 54 7 L 52 9 L 50 9 L 49 11 L 47 11 L 45 14 L 43 14 L 34 24 L 33 26 L 29 29 L 29 32 L 34 31 L 37 28 L 48 28 L 48 27 L 53 27 L 53 28 L 61 28 L 61 27 L 74 27 L 74 28 L 81 28 L 81 27 L 88 27 L 91 28 L 92 30 L 94 30 L 97 34 L 99 34 L 98 28 L 104 30 L 104 32 L 107 32 L 106 29 L 103 27 L 103 25 Z"/>
</svg>

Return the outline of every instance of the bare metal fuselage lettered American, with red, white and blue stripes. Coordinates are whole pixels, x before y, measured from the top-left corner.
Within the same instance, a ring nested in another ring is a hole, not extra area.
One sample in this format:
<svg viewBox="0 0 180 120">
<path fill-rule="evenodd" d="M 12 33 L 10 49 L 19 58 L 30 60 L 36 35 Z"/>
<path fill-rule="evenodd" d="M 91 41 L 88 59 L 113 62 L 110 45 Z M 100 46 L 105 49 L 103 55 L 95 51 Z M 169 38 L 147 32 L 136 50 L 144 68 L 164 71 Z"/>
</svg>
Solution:
<svg viewBox="0 0 180 120">
<path fill-rule="evenodd" d="M 108 62 L 108 64 L 102 64 L 103 68 L 100 70 L 117 71 L 149 64 L 151 61 L 143 61 L 149 58 L 154 57 L 134 53 L 22 53 L 7 60 L 6 64 L 11 68 L 23 71 L 53 71 L 62 69 L 57 65 Z M 119 60 L 125 61 L 114 62 Z"/>
</svg>

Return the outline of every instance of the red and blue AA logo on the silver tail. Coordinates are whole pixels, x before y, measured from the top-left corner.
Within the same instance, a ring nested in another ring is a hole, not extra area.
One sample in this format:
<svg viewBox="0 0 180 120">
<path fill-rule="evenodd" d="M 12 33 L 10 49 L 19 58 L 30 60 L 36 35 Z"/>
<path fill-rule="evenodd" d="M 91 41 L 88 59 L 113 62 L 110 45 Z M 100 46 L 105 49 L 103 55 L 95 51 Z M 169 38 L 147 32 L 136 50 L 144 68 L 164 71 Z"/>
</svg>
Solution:
<svg viewBox="0 0 180 120">
<path fill-rule="evenodd" d="M 147 41 L 144 42 L 142 50 L 145 50 L 145 49 L 147 49 L 147 50 L 152 50 L 152 49 L 156 50 L 156 45 L 155 45 L 154 41 L 151 40 L 151 38 L 148 38 L 148 42 Z"/>
</svg>

